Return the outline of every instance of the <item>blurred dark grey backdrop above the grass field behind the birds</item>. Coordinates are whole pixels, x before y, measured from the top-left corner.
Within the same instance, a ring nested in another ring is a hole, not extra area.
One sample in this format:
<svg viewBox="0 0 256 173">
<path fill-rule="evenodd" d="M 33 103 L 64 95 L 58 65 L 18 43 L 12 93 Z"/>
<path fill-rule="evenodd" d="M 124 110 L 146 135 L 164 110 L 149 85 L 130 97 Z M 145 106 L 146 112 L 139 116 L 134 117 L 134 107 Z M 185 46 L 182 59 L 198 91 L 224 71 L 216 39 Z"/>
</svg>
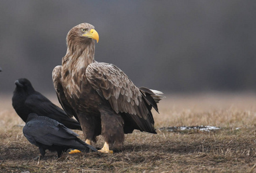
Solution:
<svg viewBox="0 0 256 173">
<path fill-rule="evenodd" d="M 256 1 L 0 1 L 0 92 L 18 78 L 54 93 L 51 72 L 81 22 L 95 59 L 168 93 L 256 91 Z"/>
</svg>

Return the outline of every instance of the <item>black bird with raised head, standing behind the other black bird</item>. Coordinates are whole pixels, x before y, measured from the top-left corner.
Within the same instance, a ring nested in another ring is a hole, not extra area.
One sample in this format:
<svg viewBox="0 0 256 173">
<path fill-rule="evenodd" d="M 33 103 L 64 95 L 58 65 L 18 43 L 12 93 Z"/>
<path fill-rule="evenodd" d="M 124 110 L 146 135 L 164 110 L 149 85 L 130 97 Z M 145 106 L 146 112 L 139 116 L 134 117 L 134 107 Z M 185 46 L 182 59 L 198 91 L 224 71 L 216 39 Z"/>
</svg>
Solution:
<svg viewBox="0 0 256 173">
<path fill-rule="evenodd" d="M 69 129 L 81 130 L 79 122 L 67 115 L 64 110 L 53 104 L 41 93 L 35 91 L 31 82 L 26 78 L 15 81 L 12 104 L 18 116 L 27 121 L 28 114 L 36 113 L 39 116 L 48 116 L 62 123 Z M 76 115 L 75 115 L 76 116 Z"/>
</svg>

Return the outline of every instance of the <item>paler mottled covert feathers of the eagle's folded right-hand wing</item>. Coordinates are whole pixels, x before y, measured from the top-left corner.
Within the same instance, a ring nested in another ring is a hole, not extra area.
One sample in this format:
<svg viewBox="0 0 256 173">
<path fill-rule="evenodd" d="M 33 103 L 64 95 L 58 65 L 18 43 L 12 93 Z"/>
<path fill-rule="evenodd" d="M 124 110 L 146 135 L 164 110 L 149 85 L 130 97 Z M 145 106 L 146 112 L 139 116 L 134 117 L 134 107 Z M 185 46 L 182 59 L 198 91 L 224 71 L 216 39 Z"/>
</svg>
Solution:
<svg viewBox="0 0 256 173">
<path fill-rule="evenodd" d="M 134 104 L 139 106 L 142 95 L 126 74 L 116 66 L 108 63 L 91 63 L 86 69 L 86 77 L 92 88 L 109 100 L 117 114 L 128 112 L 140 116 L 132 107 Z"/>
</svg>

